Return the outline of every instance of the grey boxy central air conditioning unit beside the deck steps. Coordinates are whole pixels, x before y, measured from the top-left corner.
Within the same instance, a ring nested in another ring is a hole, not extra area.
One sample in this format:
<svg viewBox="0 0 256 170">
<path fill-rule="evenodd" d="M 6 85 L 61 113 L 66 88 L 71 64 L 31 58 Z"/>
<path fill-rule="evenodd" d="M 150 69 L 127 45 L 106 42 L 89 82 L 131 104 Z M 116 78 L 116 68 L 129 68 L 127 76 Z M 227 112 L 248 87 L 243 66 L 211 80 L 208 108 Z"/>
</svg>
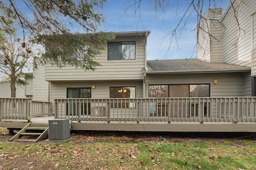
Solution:
<svg viewBox="0 0 256 170">
<path fill-rule="evenodd" d="M 70 138 L 71 119 L 48 120 L 49 140 L 65 140 Z"/>
</svg>

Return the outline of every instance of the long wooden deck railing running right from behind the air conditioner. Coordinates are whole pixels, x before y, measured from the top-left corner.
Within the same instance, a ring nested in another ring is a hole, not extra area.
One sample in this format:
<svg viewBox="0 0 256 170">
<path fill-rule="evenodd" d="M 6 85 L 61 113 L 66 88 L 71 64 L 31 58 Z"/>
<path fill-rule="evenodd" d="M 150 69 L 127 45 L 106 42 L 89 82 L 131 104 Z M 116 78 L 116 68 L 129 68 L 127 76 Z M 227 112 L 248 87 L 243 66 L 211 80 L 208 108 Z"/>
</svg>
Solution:
<svg viewBox="0 0 256 170">
<path fill-rule="evenodd" d="M 75 121 L 256 122 L 256 98 L 56 99 L 55 118 Z"/>
</svg>

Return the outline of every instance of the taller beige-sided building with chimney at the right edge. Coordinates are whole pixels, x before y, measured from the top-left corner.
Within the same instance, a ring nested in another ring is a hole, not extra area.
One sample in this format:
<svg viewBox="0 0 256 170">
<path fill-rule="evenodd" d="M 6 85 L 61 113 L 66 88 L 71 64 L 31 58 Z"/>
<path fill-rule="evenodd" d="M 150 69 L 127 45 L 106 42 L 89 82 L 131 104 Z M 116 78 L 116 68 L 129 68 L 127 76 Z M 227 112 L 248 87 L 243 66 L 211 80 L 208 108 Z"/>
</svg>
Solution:
<svg viewBox="0 0 256 170">
<path fill-rule="evenodd" d="M 200 23 L 204 30 L 209 31 L 201 30 L 198 35 L 197 58 L 200 61 L 251 68 L 242 76 L 243 96 L 256 96 L 255 9 L 255 0 L 232 0 L 224 14 L 220 8 L 210 9 L 204 16 L 209 20 Z"/>
</svg>

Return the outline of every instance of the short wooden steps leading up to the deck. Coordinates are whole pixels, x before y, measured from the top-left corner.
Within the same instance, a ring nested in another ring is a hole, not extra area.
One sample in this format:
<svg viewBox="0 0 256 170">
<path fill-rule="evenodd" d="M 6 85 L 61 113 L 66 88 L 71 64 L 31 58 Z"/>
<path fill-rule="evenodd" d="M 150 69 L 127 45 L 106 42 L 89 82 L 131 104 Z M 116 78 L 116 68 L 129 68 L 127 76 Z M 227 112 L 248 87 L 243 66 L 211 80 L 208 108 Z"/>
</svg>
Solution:
<svg viewBox="0 0 256 170">
<path fill-rule="evenodd" d="M 48 137 L 48 123 L 28 123 L 10 141 L 40 141 Z"/>
</svg>

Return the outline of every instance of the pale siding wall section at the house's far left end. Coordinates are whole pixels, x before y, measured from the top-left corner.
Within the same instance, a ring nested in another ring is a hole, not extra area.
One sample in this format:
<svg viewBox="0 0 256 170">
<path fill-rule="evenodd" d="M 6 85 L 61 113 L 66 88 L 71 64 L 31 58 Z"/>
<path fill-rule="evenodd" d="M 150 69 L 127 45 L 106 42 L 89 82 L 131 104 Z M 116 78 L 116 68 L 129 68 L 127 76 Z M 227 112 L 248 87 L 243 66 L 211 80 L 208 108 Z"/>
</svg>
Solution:
<svg viewBox="0 0 256 170">
<path fill-rule="evenodd" d="M 44 66 L 38 65 L 33 76 L 33 100 L 49 102 L 49 82 L 45 81 Z"/>
</svg>

